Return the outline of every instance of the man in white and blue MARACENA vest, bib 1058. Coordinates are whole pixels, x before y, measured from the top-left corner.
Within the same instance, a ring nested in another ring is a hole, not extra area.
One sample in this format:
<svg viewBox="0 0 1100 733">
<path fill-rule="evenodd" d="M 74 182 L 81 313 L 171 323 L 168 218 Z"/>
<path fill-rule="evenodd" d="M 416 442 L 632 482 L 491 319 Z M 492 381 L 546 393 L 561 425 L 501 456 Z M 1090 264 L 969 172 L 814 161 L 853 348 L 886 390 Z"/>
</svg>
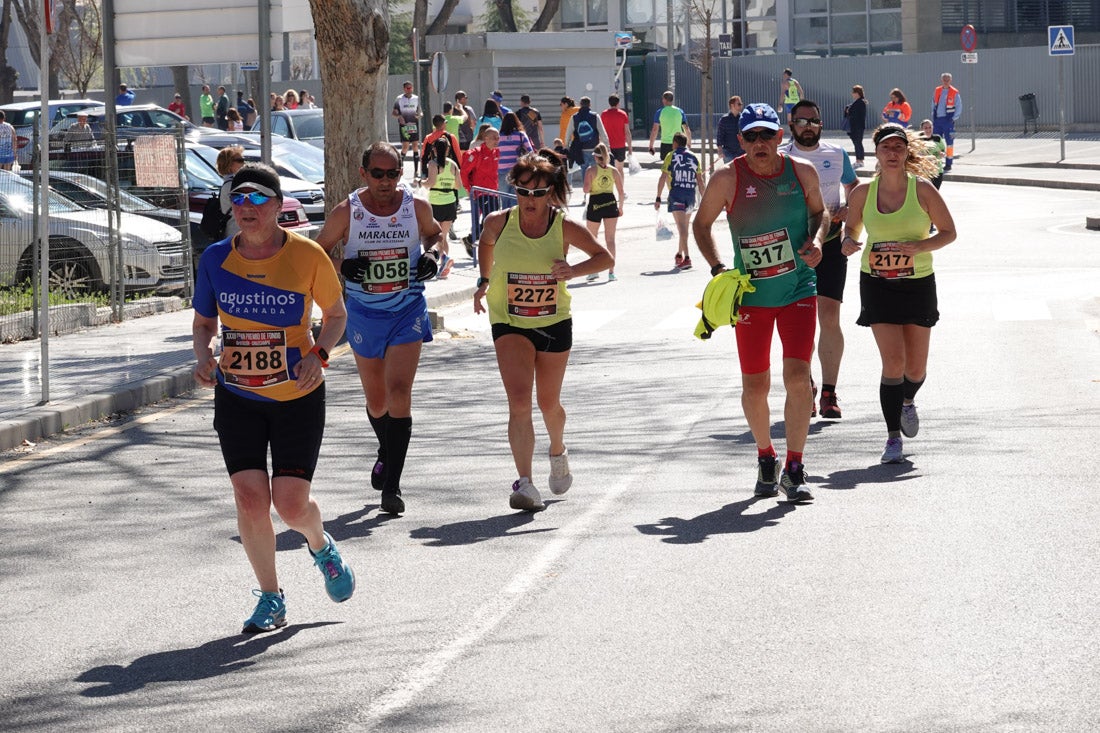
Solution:
<svg viewBox="0 0 1100 733">
<path fill-rule="evenodd" d="M 366 393 L 366 414 L 378 438 L 371 485 L 382 511 L 402 514 L 400 479 L 413 433 L 413 380 L 420 347 L 431 341 L 424 281 L 436 275 L 439 225 L 431 205 L 399 184 L 402 155 L 376 142 L 363 153 L 365 184 L 332 209 L 317 243 L 336 259 L 348 291 L 348 343 Z"/>
</svg>

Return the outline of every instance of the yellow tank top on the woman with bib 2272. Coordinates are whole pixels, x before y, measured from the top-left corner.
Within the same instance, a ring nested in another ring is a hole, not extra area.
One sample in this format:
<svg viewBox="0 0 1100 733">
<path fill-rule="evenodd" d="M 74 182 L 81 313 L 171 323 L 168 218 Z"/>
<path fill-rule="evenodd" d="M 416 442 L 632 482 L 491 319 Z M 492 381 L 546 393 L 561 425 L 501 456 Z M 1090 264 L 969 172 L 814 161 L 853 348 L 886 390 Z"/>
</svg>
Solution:
<svg viewBox="0 0 1100 733">
<path fill-rule="evenodd" d="M 519 211 L 508 209 L 504 230 L 493 248 L 486 294 L 490 322 L 544 328 L 570 317 L 569 289 L 550 274 L 553 261 L 564 258 L 564 215 L 551 209 L 550 216 L 547 233 L 531 239 L 519 228 Z"/>
</svg>

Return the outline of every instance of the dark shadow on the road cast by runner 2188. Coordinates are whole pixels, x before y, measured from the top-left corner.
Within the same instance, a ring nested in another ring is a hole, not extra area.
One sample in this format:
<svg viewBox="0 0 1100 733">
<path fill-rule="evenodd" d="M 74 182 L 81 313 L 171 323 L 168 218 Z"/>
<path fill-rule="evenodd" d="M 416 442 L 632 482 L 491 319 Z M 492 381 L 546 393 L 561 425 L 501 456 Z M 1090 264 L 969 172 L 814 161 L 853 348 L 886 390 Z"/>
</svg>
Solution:
<svg viewBox="0 0 1100 733">
<path fill-rule="evenodd" d="M 138 657 L 128 666 L 103 665 L 94 667 L 76 678 L 77 682 L 91 682 L 92 687 L 80 692 L 86 698 L 107 698 L 140 690 L 152 682 L 188 682 L 226 675 L 255 664 L 252 660 L 272 646 L 288 641 L 306 628 L 318 628 L 339 623 L 321 621 L 294 624 L 280 632 L 246 636 L 234 634 L 207 642 L 190 649 L 157 652 Z"/>
</svg>

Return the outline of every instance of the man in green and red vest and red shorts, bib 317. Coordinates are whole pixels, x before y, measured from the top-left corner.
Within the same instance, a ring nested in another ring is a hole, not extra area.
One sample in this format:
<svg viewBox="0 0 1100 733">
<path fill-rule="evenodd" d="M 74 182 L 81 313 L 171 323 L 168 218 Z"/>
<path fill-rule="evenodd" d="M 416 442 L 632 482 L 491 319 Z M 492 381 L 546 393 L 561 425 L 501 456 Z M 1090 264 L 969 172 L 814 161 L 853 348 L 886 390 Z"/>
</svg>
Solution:
<svg viewBox="0 0 1100 733">
<path fill-rule="evenodd" d="M 813 499 L 806 486 L 802 451 L 810 431 L 810 359 L 817 326 L 817 280 L 821 243 L 828 233 L 817 171 L 779 153 L 783 131 L 768 105 L 748 105 L 739 120 L 743 157 L 715 172 L 695 215 L 695 243 L 711 265 L 711 275 L 726 269 L 718 256 L 711 227 L 727 212 L 734 239 L 734 267 L 756 288 L 741 300 L 735 333 L 741 369 L 741 406 L 757 444 L 757 496 Z M 787 460 L 779 475 L 771 445 L 771 339 L 783 343 L 783 385 L 787 403 Z M 777 485 L 778 484 L 778 485 Z"/>
</svg>

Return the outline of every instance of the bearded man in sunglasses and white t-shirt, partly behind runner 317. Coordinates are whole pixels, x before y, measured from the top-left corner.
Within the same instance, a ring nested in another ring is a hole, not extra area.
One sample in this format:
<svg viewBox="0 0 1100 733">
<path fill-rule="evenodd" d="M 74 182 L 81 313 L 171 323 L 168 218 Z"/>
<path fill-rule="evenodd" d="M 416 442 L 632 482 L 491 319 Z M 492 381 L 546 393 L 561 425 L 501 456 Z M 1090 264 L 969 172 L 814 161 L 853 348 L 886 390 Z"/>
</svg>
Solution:
<svg viewBox="0 0 1100 733">
<path fill-rule="evenodd" d="M 840 358 L 844 357 L 844 332 L 840 330 L 840 302 L 848 276 L 848 258 L 840 253 L 840 231 L 848 207 L 844 201 L 856 187 L 856 171 L 851 167 L 848 153 L 839 145 L 822 142 L 822 113 L 817 105 L 802 99 L 791 107 L 791 142 L 780 146 L 780 152 L 810 161 L 817 168 L 821 180 L 822 199 L 832 217 L 828 237 L 822 245 L 822 261 L 814 271 L 817 273 L 817 360 L 822 365 L 821 415 L 839 419 L 840 406 L 836 398 L 836 382 L 840 373 Z M 840 189 L 844 189 L 844 199 Z M 813 378 L 810 379 L 813 384 Z M 816 387 L 813 387 L 816 392 Z M 817 414 L 814 405 L 813 415 Z"/>
</svg>

